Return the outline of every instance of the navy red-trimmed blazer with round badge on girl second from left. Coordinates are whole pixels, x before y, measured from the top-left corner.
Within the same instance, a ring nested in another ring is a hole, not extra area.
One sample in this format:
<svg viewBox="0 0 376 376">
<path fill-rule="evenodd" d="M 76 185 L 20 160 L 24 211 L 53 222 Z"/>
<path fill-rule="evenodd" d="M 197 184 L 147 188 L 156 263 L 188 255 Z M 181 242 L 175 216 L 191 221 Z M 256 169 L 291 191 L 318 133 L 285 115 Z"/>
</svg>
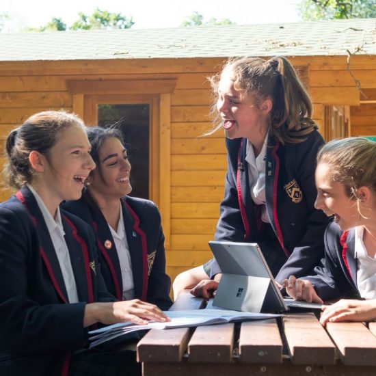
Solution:
<svg viewBox="0 0 376 376">
<path fill-rule="evenodd" d="M 161 215 L 150 200 L 125 196 L 121 204 L 131 254 L 135 298 L 168 310 L 172 305 L 169 297 L 171 280 L 165 273 L 165 238 Z M 80 200 L 66 202 L 62 207 L 81 217 L 96 232 L 103 278 L 109 292 L 122 300 L 118 252 L 102 212 L 85 194 Z"/>
</svg>

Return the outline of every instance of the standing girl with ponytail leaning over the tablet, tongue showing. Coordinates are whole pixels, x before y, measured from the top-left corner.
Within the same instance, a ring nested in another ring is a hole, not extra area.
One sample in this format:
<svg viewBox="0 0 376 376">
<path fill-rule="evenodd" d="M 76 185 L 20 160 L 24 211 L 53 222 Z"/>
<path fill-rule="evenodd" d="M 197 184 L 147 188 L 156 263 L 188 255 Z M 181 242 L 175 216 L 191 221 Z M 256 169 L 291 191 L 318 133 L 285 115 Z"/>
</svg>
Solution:
<svg viewBox="0 0 376 376">
<path fill-rule="evenodd" d="M 278 282 L 303 276 L 323 254 L 327 225 L 314 209 L 315 159 L 324 142 L 310 98 L 284 57 L 230 59 L 211 83 L 219 120 L 211 132 L 224 129 L 228 150 L 215 240 L 259 243 Z M 220 272 L 215 259 L 185 271 L 174 295 L 203 279 L 192 293 L 209 297 Z"/>
</svg>

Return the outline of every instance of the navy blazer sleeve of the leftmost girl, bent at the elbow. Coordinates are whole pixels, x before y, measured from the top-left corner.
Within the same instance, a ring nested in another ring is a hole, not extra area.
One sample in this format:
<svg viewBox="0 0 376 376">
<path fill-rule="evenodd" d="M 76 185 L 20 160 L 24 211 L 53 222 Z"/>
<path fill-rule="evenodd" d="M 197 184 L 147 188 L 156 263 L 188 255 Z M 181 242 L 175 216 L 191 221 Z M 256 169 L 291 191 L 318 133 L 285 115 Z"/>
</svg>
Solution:
<svg viewBox="0 0 376 376">
<path fill-rule="evenodd" d="M 39 242 L 31 219 L 17 214 L 0 208 L 0 347 L 19 354 L 83 347 L 85 304 L 59 304 L 56 297 L 56 304 L 49 297 L 38 304 L 30 298 L 38 288 L 33 272 L 40 262 Z"/>
</svg>

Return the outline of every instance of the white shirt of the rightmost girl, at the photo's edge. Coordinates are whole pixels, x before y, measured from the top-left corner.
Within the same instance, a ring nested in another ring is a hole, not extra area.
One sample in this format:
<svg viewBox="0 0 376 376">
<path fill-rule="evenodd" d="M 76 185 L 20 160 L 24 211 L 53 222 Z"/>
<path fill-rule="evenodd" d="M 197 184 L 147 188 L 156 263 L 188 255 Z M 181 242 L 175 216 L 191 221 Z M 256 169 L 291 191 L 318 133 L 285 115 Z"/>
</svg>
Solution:
<svg viewBox="0 0 376 376">
<path fill-rule="evenodd" d="M 364 227 L 355 227 L 355 258 L 358 259 L 356 283 L 364 299 L 376 298 L 376 258 L 367 254 L 363 242 Z"/>
</svg>

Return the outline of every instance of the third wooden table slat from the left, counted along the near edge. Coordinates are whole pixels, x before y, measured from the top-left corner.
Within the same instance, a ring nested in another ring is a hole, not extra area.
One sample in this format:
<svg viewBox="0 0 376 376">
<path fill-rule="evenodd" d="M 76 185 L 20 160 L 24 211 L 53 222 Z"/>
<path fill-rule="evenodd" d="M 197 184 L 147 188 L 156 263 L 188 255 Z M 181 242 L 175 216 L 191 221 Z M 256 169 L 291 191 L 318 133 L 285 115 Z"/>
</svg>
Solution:
<svg viewBox="0 0 376 376">
<path fill-rule="evenodd" d="M 241 323 L 239 361 L 282 363 L 282 338 L 276 319 Z"/>
</svg>

